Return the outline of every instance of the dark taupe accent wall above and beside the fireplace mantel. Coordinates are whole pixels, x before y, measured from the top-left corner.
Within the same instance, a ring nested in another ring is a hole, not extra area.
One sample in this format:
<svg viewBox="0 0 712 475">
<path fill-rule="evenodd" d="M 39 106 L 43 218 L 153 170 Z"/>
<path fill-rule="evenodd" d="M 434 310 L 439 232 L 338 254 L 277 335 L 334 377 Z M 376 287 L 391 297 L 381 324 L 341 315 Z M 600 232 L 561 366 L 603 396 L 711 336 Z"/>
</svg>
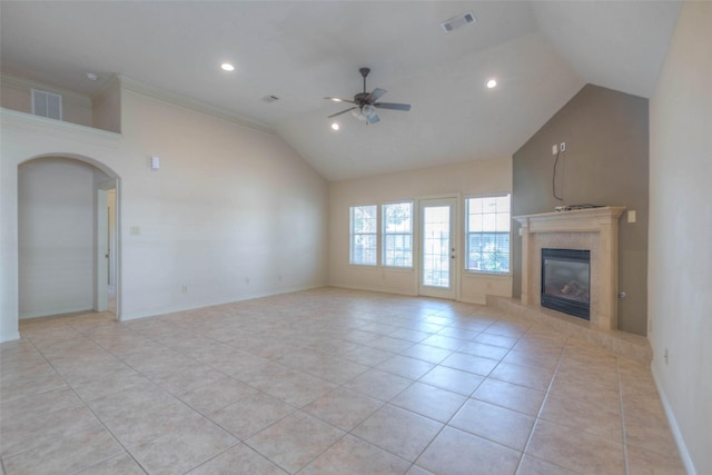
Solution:
<svg viewBox="0 0 712 475">
<path fill-rule="evenodd" d="M 553 211 L 563 205 L 625 206 L 620 218 L 619 329 L 647 331 L 649 220 L 647 99 L 584 86 L 513 156 L 512 216 Z M 554 144 L 560 155 L 553 195 Z M 522 294 L 522 238 L 513 224 L 513 295 Z"/>
</svg>

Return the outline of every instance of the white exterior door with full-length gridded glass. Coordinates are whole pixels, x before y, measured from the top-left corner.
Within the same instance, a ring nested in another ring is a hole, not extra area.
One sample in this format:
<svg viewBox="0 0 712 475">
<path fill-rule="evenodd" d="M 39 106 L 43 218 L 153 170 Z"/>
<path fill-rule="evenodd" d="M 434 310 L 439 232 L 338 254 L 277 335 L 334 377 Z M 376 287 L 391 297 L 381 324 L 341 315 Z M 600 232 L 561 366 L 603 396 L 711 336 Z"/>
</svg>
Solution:
<svg viewBox="0 0 712 475">
<path fill-rule="evenodd" d="M 421 212 L 421 276 L 418 294 L 457 298 L 457 199 L 418 201 Z"/>
</svg>

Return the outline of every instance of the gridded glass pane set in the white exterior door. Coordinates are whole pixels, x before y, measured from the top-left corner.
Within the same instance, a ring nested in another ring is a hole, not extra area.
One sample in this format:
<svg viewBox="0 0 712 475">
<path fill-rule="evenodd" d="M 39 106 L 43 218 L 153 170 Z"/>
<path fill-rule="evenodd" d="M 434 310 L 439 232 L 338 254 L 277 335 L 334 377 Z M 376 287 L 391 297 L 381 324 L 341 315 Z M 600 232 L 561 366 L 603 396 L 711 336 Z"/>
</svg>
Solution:
<svg viewBox="0 0 712 475">
<path fill-rule="evenodd" d="M 449 287 L 449 206 L 423 209 L 423 285 Z"/>
</svg>

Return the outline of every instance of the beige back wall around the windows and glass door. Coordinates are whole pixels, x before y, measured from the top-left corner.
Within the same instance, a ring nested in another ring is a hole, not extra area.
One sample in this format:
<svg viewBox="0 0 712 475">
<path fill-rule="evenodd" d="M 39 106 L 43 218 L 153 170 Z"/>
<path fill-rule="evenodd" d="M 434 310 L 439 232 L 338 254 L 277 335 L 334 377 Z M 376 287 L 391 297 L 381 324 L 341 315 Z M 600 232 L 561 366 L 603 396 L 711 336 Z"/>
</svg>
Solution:
<svg viewBox="0 0 712 475">
<path fill-rule="evenodd" d="M 354 205 L 382 205 L 418 197 L 508 194 L 512 160 L 475 160 L 466 164 L 380 175 L 329 184 L 329 284 L 404 295 L 417 294 L 414 269 L 352 266 L 348 264 L 348 209 Z M 464 221 L 461 206 L 459 221 Z M 462 230 L 462 227 L 461 227 Z M 459 255 L 463 255 L 462 239 Z M 510 296 L 511 276 L 459 273 L 459 298 L 485 303 L 487 294 Z"/>
</svg>

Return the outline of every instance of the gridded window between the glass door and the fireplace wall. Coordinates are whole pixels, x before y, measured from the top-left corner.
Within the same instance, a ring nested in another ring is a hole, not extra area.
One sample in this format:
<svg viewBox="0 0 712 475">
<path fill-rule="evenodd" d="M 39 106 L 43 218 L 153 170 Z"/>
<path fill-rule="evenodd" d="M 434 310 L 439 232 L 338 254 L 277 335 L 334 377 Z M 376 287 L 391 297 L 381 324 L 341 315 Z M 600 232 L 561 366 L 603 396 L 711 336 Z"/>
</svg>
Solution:
<svg viewBox="0 0 712 475">
<path fill-rule="evenodd" d="M 510 195 L 466 200 L 465 269 L 510 273 Z"/>
</svg>

